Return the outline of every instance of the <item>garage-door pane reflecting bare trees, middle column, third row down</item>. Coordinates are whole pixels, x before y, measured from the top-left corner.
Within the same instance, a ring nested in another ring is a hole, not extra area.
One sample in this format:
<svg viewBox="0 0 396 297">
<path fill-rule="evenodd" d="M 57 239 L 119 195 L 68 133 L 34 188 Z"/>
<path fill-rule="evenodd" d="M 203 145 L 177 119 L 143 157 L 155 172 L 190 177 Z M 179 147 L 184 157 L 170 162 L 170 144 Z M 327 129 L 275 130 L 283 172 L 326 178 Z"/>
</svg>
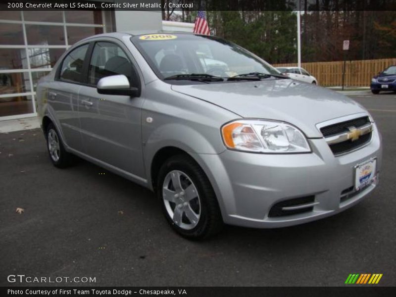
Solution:
<svg viewBox="0 0 396 297">
<path fill-rule="evenodd" d="M 28 49 L 30 68 L 52 68 L 66 49 Z"/>
</svg>

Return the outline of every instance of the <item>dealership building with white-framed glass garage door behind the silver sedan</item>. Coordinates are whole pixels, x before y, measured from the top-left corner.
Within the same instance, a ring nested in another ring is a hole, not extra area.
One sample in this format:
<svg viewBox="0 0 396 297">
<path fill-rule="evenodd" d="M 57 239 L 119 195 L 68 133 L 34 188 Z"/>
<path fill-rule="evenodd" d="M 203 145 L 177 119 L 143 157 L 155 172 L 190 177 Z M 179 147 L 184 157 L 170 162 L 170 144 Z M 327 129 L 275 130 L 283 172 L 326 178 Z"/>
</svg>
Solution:
<svg viewBox="0 0 396 297">
<path fill-rule="evenodd" d="M 36 87 L 62 53 L 100 33 L 192 31 L 193 24 L 163 22 L 161 11 L 0 11 L 0 120 L 36 116 Z"/>
</svg>

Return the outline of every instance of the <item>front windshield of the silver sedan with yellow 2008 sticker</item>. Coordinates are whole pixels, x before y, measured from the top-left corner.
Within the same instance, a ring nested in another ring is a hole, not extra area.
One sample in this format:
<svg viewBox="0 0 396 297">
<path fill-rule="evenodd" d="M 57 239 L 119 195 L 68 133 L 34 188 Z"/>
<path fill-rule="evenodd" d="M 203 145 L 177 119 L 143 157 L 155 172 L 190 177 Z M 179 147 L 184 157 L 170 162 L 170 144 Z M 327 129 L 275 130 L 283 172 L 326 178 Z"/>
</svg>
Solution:
<svg viewBox="0 0 396 297">
<path fill-rule="evenodd" d="M 149 34 L 131 38 L 161 78 L 202 74 L 230 78 L 243 74 L 280 75 L 259 57 L 231 42 L 213 36 Z M 222 80 L 221 80 L 222 81 Z"/>
</svg>

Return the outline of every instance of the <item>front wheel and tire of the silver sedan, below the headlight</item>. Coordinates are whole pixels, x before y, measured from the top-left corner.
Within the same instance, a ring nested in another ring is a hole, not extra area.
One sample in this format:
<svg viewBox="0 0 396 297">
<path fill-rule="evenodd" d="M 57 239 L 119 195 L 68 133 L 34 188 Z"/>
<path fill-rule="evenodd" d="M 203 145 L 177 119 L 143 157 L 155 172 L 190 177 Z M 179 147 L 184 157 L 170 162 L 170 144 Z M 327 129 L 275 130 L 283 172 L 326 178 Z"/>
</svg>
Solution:
<svg viewBox="0 0 396 297">
<path fill-rule="evenodd" d="M 221 230 L 223 219 L 216 195 L 191 157 L 176 155 L 166 160 L 156 186 L 164 215 L 178 234 L 199 240 Z"/>
</svg>

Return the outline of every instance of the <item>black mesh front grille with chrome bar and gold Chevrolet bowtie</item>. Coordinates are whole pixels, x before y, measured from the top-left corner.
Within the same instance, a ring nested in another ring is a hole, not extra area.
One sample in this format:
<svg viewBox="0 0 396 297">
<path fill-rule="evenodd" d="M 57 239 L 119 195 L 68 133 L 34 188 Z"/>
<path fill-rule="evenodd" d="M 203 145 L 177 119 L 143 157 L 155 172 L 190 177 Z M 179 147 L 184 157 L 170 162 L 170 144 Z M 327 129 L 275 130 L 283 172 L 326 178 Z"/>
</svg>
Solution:
<svg viewBox="0 0 396 297">
<path fill-rule="evenodd" d="M 358 149 L 371 141 L 373 124 L 368 116 L 320 128 L 334 155 Z"/>
</svg>

